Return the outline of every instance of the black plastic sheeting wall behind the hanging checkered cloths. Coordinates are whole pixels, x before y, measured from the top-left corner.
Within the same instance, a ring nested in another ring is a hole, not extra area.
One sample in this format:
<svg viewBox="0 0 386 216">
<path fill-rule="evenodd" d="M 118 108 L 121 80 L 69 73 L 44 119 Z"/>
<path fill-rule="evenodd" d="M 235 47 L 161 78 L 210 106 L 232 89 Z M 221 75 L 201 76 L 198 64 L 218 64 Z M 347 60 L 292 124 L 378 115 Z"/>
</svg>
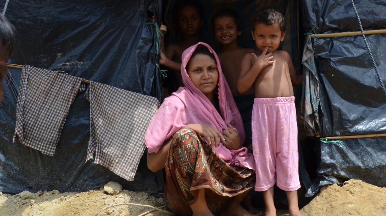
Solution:
<svg viewBox="0 0 386 216">
<path fill-rule="evenodd" d="M 157 12 L 158 5 L 161 1 L 10 1 L 5 16 L 17 29 L 10 62 L 63 70 L 161 100 L 163 89 L 155 65 L 156 28 L 146 24 L 150 22 L 148 11 Z M 4 80 L 0 105 L 0 191 L 79 192 L 108 181 L 133 191 L 162 189 L 162 174 L 149 171 L 146 158 L 132 182 L 85 161 L 90 105 L 84 93 L 78 94 L 71 106 L 53 157 L 12 143 L 21 70 L 10 71 L 12 79 L 7 76 Z"/>
</svg>

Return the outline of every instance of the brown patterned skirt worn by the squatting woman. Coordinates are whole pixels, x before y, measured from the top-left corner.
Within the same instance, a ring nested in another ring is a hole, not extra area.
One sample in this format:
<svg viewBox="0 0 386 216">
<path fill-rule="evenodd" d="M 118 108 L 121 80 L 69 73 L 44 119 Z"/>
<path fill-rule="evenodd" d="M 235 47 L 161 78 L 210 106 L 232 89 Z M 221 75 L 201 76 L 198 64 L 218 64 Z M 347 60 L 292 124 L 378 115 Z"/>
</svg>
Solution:
<svg viewBox="0 0 386 216">
<path fill-rule="evenodd" d="M 189 204 L 205 188 L 208 208 L 216 213 L 229 198 L 254 188 L 251 169 L 228 165 L 195 131 L 184 128 L 172 139 L 165 166 L 165 203 L 178 215 L 192 215 Z"/>
</svg>

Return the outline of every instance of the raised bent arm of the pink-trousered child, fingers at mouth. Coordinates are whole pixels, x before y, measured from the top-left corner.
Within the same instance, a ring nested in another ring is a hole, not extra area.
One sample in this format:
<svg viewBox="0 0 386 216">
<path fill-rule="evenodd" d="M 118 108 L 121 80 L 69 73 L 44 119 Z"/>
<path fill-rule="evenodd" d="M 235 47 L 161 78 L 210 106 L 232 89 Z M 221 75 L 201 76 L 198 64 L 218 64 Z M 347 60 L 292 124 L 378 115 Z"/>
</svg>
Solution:
<svg viewBox="0 0 386 216">
<path fill-rule="evenodd" d="M 261 70 L 268 65 L 273 64 L 272 53 L 267 53 L 266 48 L 259 57 L 256 54 L 247 53 L 241 61 L 240 75 L 237 80 L 237 91 L 242 94 L 250 89 L 260 74 Z"/>
</svg>

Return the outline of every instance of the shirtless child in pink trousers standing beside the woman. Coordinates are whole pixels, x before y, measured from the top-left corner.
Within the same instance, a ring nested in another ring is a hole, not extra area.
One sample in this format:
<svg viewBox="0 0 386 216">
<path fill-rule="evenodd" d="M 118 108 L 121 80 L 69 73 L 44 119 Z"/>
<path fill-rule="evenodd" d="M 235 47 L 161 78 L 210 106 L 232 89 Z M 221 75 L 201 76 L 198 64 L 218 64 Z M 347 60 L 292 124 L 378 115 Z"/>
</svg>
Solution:
<svg viewBox="0 0 386 216">
<path fill-rule="evenodd" d="M 254 88 L 252 148 L 256 162 L 255 191 L 262 191 L 267 216 L 276 216 L 273 186 L 284 190 L 290 216 L 300 216 L 297 190 L 298 137 L 295 97 L 292 85 L 301 85 L 291 57 L 278 49 L 284 40 L 283 15 L 262 8 L 253 16 L 252 37 L 256 53 L 245 54 L 237 90 Z"/>
</svg>

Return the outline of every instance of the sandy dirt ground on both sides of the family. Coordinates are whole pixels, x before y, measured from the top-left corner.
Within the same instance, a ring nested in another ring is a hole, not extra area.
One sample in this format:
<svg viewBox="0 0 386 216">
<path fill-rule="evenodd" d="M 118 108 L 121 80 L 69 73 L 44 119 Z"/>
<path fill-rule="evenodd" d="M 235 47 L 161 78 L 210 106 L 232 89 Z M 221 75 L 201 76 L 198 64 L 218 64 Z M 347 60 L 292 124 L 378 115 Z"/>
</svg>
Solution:
<svg viewBox="0 0 386 216">
<path fill-rule="evenodd" d="M 1 216 L 166 216 L 153 211 L 151 206 L 164 205 L 162 198 L 147 193 L 104 188 L 83 193 L 59 193 L 39 191 L 9 195 L 0 193 Z M 108 194 L 110 193 L 110 194 Z M 164 208 L 163 208 L 164 209 Z M 324 186 L 320 193 L 301 212 L 314 215 L 386 215 L 386 188 L 379 188 L 360 180 L 350 179 L 343 186 Z M 278 211 L 278 215 L 288 215 Z"/>
</svg>

